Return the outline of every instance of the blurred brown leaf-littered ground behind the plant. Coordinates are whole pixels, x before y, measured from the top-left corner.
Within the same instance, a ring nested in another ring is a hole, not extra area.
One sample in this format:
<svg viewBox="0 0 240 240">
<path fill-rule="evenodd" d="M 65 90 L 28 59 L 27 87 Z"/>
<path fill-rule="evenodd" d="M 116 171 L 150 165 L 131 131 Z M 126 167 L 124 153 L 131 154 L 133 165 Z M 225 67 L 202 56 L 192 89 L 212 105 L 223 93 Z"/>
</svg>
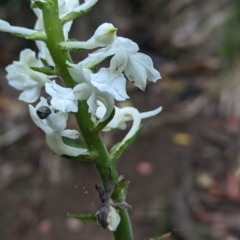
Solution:
<svg viewBox="0 0 240 240">
<path fill-rule="evenodd" d="M 35 22 L 26 0 L 1 1 L 0 18 L 29 28 Z M 86 40 L 103 22 L 137 42 L 162 75 L 145 93 L 128 87 L 140 111 L 164 109 L 143 122 L 118 163 L 131 182 L 135 239 L 240 239 L 239 0 L 102 0 L 70 37 Z M 36 50 L 34 42 L 0 33 L 0 239 L 113 239 L 66 215 L 98 211 L 100 180 L 92 164 L 48 149 L 8 86 L 4 68 L 23 48 Z M 76 128 L 74 119 L 69 125 Z M 104 134 L 109 147 L 123 136 Z"/>
</svg>

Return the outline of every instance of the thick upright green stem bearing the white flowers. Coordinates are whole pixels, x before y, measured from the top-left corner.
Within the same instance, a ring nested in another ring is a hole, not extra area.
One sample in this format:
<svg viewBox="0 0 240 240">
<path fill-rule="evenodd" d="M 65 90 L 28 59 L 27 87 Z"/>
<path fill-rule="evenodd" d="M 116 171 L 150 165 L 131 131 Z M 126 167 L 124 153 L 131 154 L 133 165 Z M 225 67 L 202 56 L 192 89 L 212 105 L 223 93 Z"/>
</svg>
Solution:
<svg viewBox="0 0 240 240">
<path fill-rule="evenodd" d="M 53 6 L 43 9 L 43 22 L 47 37 L 46 44 L 65 85 L 73 88 L 76 83 L 69 74 L 66 66 L 66 61 L 72 62 L 71 56 L 58 47 L 58 44 L 65 40 L 62 23 L 58 14 L 58 1 L 53 0 L 52 2 Z M 91 114 L 88 113 L 88 105 L 85 101 L 79 101 L 78 112 L 75 113 L 75 117 L 89 151 L 97 153 L 94 163 L 101 177 L 103 186 L 107 183 L 109 168 L 111 169 L 112 180 L 117 182 L 119 175 L 116 169 L 116 164 L 110 160 L 108 150 L 101 135 L 96 131 L 92 131 L 94 124 L 91 121 Z M 124 201 L 121 193 L 113 196 L 113 200 L 119 202 Z M 126 210 L 120 210 L 119 214 L 121 222 L 117 230 L 114 232 L 115 240 L 133 240 L 131 222 L 128 213 Z"/>
</svg>

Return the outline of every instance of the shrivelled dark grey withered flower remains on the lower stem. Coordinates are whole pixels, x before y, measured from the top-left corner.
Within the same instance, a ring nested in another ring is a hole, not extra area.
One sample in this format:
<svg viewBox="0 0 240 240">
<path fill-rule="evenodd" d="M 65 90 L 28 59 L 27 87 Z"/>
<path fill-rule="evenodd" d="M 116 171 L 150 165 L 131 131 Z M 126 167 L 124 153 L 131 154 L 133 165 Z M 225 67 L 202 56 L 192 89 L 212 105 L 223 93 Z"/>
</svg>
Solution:
<svg viewBox="0 0 240 240">
<path fill-rule="evenodd" d="M 105 187 L 105 191 L 101 186 L 96 185 L 95 188 L 99 194 L 99 198 L 101 200 L 102 207 L 100 208 L 99 212 L 97 213 L 97 219 L 98 222 L 101 224 L 101 226 L 105 229 L 108 227 L 109 222 L 109 214 L 111 207 L 116 208 L 122 208 L 127 209 L 132 214 L 132 206 L 129 205 L 126 202 L 116 202 L 111 199 L 111 195 L 114 191 L 114 188 L 116 186 L 116 183 L 111 182 L 111 170 L 109 168 L 109 176 L 108 176 L 108 182 Z"/>
</svg>

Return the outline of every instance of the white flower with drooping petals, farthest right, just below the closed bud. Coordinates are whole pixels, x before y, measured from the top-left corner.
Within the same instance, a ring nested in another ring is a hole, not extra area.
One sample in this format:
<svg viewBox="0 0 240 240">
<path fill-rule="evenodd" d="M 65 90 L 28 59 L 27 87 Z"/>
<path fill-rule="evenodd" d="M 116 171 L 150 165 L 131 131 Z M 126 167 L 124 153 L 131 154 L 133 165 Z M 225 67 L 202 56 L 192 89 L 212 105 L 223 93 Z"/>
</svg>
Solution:
<svg viewBox="0 0 240 240">
<path fill-rule="evenodd" d="M 138 50 L 138 45 L 130 39 L 117 37 L 110 46 L 89 54 L 79 64 L 86 68 L 92 68 L 105 58 L 115 55 L 109 69 L 115 73 L 123 71 L 130 81 L 144 90 L 147 80 L 156 82 L 161 76 L 153 67 L 151 58 L 143 53 L 138 53 Z"/>
</svg>

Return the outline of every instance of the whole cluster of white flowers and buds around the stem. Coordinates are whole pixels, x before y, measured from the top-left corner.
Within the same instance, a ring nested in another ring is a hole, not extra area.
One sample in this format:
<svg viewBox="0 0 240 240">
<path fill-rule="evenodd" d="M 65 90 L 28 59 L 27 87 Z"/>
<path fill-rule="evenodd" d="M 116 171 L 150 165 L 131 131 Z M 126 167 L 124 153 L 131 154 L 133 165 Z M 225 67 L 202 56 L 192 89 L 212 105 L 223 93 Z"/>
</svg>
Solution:
<svg viewBox="0 0 240 240">
<path fill-rule="evenodd" d="M 86 148 L 70 146 L 65 138 L 77 139 L 77 130 L 66 129 L 69 113 L 78 112 L 79 101 L 85 101 L 91 120 L 97 124 L 106 121 L 102 130 L 113 128 L 125 129 L 126 121 L 133 120 L 132 128 L 123 139 L 123 143 L 131 139 L 138 131 L 141 119 L 154 116 L 161 107 L 146 113 L 139 113 L 136 108 L 118 108 L 115 101 L 125 101 L 129 98 L 126 91 L 127 80 L 144 90 L 147 80 L 156 82 L 160 79 L 159 72 L 153 67 L 153 62 L 147 55 L 138 52 L 136 43 L 130 39 L 118 37 L 117 28 L 110 23 L 100 25 L 93 36 L 87 41 L 70 41 L 68 33 L 72 20 L 80 16 L 98 0 L 58 0 L 59 19 L 62 22 L 64 39 L 57 43 L 60 52 L 93 49 L 84 60 L 75 64 L 65 62 L 68 72 L 74 81 L 72 88 L 59 84 L 62 76 L 57 71 L 52 73 L 43 69 L 55 68 L 51 51 L 48 49 L 48 39 L 44 25 L 44 8 L 48 8 L 51 0 L 31 0 L 32 8 L 37 16 L 34 29 L 11 26 L 0 20 L 0 31 L 9 32 L 20 37 L 32 39 L 38 47 L 36 55 L 30 49 L 20 53 L 19 61 L 7 66 L 9 85 L 21 91 L 19 99 L 27 103 L 39 102 L 34 107 L 29 105 L 30 116 L 34 123 L 46 135 L 50 149 L 59 155 L 79 156 L 87 152 Z M 94 49 L 96 49 L 94 51 Z M 109 67 L 101 67 L 100 63 L 110 59 Z M 51 66 L 51 67 L 50 67 Z M 59 80 L 60 79 L 60 80 Z M 62 79 L 64 82 L 64 79 Z M 42 88 L 49 95 L 47 99 L 40 97 Z M 114 116 L 112 116 L 115 111 Z M 111 118 L 111 119 L 110 119 Z M 109 229 L 116 229 L 116 227 Z"/>
</svg>

